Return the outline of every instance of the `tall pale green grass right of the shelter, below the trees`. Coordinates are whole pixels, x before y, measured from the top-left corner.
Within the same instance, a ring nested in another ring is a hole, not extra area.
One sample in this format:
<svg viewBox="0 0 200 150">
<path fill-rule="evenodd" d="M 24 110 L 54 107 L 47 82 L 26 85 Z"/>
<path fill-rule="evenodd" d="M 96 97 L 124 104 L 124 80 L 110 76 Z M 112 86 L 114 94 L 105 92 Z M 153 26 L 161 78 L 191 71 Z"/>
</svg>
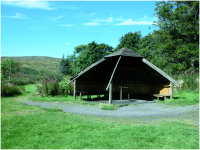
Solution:
<svg viewBox="0 0 200 150">
<path fill-rule="evenodd" d="M 172 78 L 179 82 L 179 86 L 174 86 L 174 92 L 177 93 L 182 90 L 192 90 L 199 93 L 199 73 L 182 73 L 172 75 Z"/>
</svg>

